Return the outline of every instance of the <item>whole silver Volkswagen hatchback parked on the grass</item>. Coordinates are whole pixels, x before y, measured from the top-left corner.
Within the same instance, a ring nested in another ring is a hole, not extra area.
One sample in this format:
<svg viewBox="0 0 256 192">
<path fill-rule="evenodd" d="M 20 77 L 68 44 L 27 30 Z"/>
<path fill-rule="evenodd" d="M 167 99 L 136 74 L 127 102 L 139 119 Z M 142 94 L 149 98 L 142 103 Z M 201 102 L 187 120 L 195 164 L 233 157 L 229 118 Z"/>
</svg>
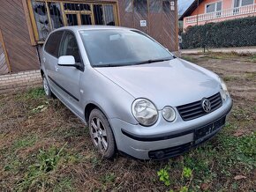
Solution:
<svg viewBox="0 0 256 192">
<path fill-rule="evenodd" d="M 167 159 L 222 129 L 232 100 L 221 78 L 136 29 L 68 26 L 41 53 L 48 97 L 87 123 L 104 158 Z"/>
</svg>

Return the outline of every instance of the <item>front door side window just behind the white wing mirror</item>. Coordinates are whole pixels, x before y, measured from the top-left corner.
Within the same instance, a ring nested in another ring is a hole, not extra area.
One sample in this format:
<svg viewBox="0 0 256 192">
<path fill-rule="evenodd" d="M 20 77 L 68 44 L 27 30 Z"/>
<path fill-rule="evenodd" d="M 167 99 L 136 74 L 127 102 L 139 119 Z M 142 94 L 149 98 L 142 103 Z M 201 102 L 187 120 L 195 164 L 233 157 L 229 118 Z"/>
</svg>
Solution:
<svg viewBox="0 0 256 192">
<path fill-rule="evenodd" d="M 79 46 L 74 34 L 70 32 L 64 33 L 64 38 L 59 48 L 59 56 L 72 55 L 76 63 L 80 63 Z"/>
</svg>

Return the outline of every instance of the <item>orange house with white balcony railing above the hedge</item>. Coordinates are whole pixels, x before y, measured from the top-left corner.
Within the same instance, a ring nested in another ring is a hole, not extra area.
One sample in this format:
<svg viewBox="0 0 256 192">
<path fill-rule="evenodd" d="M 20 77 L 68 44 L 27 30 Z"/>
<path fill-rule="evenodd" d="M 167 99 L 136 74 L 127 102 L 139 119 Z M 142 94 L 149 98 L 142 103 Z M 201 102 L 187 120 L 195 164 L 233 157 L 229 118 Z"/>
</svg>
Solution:
<svg viewBox="0 0 256 192">
<path fill-rule="evenodd" d="M 184 30 L 227 19 L 256 16 L 256 0 L 195 0 L 179 20 Z"/>
</svg>

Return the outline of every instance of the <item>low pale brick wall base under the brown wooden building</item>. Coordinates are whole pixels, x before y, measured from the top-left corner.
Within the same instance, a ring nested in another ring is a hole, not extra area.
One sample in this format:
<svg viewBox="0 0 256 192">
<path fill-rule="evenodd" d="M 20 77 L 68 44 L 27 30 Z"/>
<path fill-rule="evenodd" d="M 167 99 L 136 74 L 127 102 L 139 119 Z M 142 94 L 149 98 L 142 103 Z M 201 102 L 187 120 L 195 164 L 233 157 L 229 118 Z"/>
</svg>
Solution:
<svg viewBox="0 0 256 192">
<path fill-rule="evenodd" d="M 40 70 L 29 70 L 0 76 L 0 92 L 9 92 L 11 90 L 40 84 Z"/>
</svg>

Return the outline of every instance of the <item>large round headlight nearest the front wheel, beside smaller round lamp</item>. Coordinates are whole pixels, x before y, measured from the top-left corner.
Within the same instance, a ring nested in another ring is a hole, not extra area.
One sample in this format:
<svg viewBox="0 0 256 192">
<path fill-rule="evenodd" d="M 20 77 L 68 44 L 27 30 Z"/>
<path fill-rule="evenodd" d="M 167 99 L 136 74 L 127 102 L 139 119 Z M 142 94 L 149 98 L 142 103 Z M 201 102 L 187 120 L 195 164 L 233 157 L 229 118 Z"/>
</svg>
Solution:
<svg viewBox="0 0 256 192">
<path fill-rule="evenodd" d="M 132 103 L 132 114 L 144 126 L 151 126 L 158 119 L 158 111 L 150 100 L 138 99 Z"/>
</svg>

